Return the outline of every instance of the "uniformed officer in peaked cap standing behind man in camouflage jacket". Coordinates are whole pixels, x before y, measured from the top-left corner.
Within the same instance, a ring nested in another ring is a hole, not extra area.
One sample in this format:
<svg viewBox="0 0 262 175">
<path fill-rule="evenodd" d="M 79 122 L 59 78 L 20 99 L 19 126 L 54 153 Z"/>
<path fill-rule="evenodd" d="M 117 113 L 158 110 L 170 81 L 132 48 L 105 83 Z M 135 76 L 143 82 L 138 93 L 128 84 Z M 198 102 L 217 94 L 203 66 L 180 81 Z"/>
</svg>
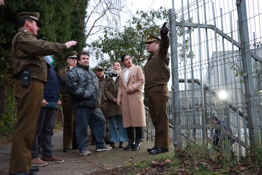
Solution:
<svg viewBox="0 0 262 175">
<path fill-rule="evenodd" d="M 60 93 L 62 94 L 62 108 L 64 114 L 64 129 L 63 129 L 63 152 L 69 152 L 72 141 L 72 149 L 77 149 L 76 133 L 74 127 L 74 115 L 71 108 L 71 97 L 65 86 L 65 78 L 69 70 L 76 66 L 77 52 L 71 51 L 65 56 L 67 65 L 58 70 L 60 79 Z"/>
</svg>

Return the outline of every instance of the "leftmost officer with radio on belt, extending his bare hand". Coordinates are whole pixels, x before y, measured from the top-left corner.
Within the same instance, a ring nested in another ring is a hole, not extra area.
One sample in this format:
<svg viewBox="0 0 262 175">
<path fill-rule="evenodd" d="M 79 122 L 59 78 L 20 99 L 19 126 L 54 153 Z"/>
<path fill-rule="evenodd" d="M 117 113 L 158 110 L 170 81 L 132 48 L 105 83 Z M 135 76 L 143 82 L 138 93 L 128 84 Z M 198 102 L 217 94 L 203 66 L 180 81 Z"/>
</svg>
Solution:
<svg viewBox="0 0 262 175">
<path fill-rule="evenodd" d="M 18 31 L 13 38 L 11 56 L 15 78 L 14 96 L 17 99 L 17 122 L 13 131 L 13 143 L 9 174 L 34 174 L 38 167 L 31 167 L 31 146 L 41 109 L 44 84 L 47 82 L 47 65 L 44 56 L 54 55 L 76 45 L 37 39 L 38 12 L 22 12 L 17 15 Z M 31 172 L 30 172 L 31 171 Z"/>
</svg>

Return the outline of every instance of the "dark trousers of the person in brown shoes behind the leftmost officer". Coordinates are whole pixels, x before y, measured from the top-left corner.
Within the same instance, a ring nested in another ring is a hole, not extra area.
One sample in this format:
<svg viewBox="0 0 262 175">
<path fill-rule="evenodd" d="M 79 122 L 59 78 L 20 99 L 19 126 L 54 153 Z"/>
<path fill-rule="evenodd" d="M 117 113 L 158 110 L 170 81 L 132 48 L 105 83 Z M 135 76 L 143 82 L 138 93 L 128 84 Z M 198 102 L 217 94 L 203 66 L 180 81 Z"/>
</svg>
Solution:
<svg viewBox="0 0 262 175">
<path fill-rule="evenodd" d="M 45 157 L 52 157 L 52 131 L 55 127 L 56 108 L 42 107 L 35 131 L 35 137 L 31 148 L 32 159 L 39 157 L 38 136 L 41 134 L 42 153 Z"/>
</svg>

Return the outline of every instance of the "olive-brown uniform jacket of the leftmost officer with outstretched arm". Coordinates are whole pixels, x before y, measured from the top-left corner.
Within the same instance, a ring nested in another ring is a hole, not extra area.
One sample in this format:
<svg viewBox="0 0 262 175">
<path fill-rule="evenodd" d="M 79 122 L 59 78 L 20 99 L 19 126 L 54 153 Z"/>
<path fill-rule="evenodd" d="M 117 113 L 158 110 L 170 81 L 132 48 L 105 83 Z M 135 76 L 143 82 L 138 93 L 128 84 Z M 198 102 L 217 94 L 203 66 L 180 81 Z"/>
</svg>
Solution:
<svg viewBox="0 0 262 175">
<path fill-rule="evenodd" d="M 47 65 L 44 56 L 55 55 L 66 50 L 67 46 L 37 39 L 33 33 L 19 28 L 12 41 L 13 78 L 22 78 L 24 70 L 29 69 L 32 79 L 47 82 Z"/>
</svg>

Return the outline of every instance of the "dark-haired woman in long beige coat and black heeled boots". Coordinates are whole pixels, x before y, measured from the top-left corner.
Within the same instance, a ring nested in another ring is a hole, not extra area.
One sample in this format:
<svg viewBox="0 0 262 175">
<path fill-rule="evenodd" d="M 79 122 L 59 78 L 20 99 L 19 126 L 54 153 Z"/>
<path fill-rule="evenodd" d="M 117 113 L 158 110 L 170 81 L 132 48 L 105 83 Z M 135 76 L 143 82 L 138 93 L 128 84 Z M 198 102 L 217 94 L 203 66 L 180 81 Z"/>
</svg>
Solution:
<svg viewBox="0 0 262 175">
<path fill-rule="evenodd" d="M 142 68 L 132 64 L 130 55 L 122 55 L 121 61 L 125 65 L 125 69 L 119 73 L 117 104 L 122 105 L 123 127 L 126 128 L 128 136 L 127 147 L 123 149 L 132 148 L 132 151 L 136 151 L 140 149 L 142 127 L 146 126 L 142 93 L 145 79 Z M 133 127 L 135 127 L 135 145 L 133 145 Z"/>
</svg>

